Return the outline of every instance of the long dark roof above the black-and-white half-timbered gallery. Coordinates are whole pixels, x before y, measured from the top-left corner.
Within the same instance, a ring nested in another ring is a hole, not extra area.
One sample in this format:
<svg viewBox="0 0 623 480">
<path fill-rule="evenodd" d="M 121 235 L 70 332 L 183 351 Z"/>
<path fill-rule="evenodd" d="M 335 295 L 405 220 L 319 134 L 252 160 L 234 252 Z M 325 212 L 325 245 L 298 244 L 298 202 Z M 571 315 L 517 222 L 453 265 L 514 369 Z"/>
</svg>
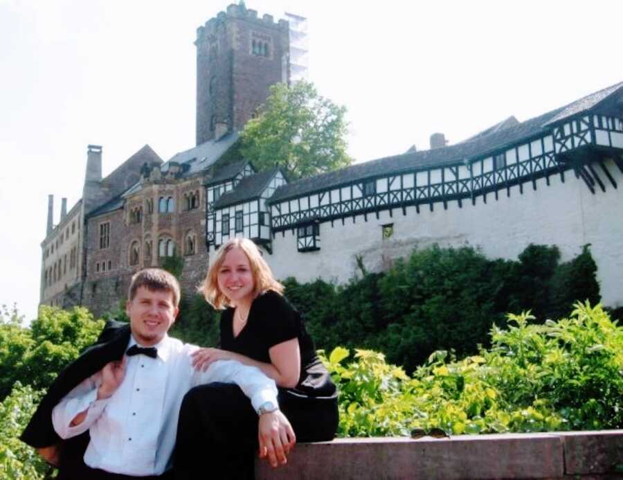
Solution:
<svg viewBox="0 0 623 480">
<path fill-rule="evenodd" d="M 350 184 L 353 181 L 373 178 L 381 175 L 392 175 L 409 170 L 426 170 L 429 168 L 456 165 L 462 161 L 486 157 L 503 148 L 509 148 L 519 141 L 528 141 L 536 136 L 551 132 L 551 124 L 568 116 L 584 112 L 602 102 L 615 91 L 622 89 L 623 82 L 613 87 L 590 94 L 566 107 L 552 110 L 525 122 L 516 123 L 510 117 L 502 123 L 480 132 L 466 141 L 448 145 L 444 148 L 409 151 L 404 154 L 384 157 L 377 160 L 357 163 L 350 167 L 334 170 L 314 177 L 308 177 L 280 186 L 269 200 L 270 204 L 282 199 L 298 197 L 318 190 L 326 190 Z M 503 127 L 502 127 L 503 126 Z"/>
</svg>

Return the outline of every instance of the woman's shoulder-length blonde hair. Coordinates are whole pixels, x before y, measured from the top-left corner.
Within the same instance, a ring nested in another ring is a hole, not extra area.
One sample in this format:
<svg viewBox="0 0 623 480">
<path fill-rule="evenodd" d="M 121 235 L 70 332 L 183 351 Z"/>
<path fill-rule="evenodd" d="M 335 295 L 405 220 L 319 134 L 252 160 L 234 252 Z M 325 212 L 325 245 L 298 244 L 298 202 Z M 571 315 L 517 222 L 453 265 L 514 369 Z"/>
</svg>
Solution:
<svg viewBox="0 0 623 480">
<path fill-rule="evenodd" d="M 283 285 L 276 281 L 271 271 L 271 267 L 268 266 L 266 260 L 260 254 L 260 249 L 248 238 L 232 238 L 227 240 L 216 251 L 214 261 L 208 268 L 208 274 L 199 288 L 200 293 L 204 294 L 206 301 L 210 303 L 217 310 L 224 310 L 228 307 L 229 299 L 219 289 L 218 275 L 219 269 L 225 261 L 225 256 L 231 249 L 241 249 L 244 251 L 246 258 L 249 258 L 249 265 L 251 265 L 251 275 L 253 276 L 253 283 L 255 284 L 255 290 L 253 294 L 258 296 L 262 292 L 267 290 L 273 290 L 278 294 L 283 294 Z"/>
</svg>

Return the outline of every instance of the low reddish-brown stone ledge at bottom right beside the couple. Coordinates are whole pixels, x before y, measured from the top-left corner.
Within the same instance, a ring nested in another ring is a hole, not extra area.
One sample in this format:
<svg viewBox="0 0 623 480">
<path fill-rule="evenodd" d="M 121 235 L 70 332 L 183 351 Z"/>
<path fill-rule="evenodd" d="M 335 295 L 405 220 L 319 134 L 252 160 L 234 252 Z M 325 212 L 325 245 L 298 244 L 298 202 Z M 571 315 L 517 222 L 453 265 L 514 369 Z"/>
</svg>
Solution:
<svg viewBox="0 0 623 480">
<path fill-rule="evenodd" d="M 339 438 L 300 443 L 288 464 L 255 465 L 258 480 L 623 478 L 623 430 L 452 438 Z M 586 477 L 585 477 L 586 476 Z"/>
</svg>

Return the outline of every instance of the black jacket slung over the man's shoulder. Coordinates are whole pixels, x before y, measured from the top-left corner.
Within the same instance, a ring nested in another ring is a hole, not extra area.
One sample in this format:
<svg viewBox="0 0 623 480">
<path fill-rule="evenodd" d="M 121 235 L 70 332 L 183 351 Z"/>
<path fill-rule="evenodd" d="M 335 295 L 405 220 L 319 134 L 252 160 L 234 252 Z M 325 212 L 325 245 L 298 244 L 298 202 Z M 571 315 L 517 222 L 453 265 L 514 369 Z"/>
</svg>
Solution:
<svg viewBox="0 0 623 480">
<path fill-rule="evenodd" d="M 35 448 L 60 443 L 61 439 L 52 425 L 52 410 L 82 380 L 100 371 L 108 362 L 122 359 L 129 338 L 128 323 L 107 321 L 96 343 L 87 347 L 56 377 L 19 439 Z"/>
</svg>

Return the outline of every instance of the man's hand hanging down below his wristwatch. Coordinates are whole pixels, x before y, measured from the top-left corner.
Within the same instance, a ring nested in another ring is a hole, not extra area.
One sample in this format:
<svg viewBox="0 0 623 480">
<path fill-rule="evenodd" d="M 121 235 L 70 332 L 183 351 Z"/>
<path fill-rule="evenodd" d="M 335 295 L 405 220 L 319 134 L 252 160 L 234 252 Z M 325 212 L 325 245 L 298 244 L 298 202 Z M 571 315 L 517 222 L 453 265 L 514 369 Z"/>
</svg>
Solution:
<svg viewBox="0 0 623 480">
<path fill-rule="evenodd" d="M 296 436 L 288 419 L 280 410 L 260 415 L 258 426 L 260 459 L 268 456 L 273 467 L 287 463 L 287 454 L 294 448 Z"/>
</svg>

